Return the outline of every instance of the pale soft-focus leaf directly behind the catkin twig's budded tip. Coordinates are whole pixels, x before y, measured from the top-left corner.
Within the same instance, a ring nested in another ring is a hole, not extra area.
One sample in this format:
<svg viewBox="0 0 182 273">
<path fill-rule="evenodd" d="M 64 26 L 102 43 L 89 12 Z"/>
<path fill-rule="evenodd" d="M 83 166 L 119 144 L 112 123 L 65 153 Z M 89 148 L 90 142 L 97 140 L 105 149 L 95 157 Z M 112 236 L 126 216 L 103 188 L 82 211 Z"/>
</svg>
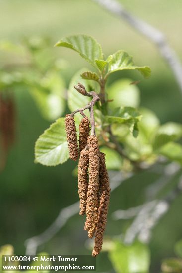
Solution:
<svg viewBox="0 0 182 273">
<path fill-rule="evenodd" d="M 71 79 L 69 88 L 68 88 L 68 106 L 71 112 L 75 111 L 76 109 L 79 109 L 85 105 L 87 105 L 90 102 L 90 98 L 83 96 L 78 91 L 74 89 L 74 85 L 78 84 L 78 82 L 82 83 L 86 90 L 88 91 L 89 86 L 88 82 L 84 80 L 80 74 L 82 74 L 85 71 L 85 69 L 79 70 Z M 78 114 L 79 115 L 79 114 Z"/>
</svg>

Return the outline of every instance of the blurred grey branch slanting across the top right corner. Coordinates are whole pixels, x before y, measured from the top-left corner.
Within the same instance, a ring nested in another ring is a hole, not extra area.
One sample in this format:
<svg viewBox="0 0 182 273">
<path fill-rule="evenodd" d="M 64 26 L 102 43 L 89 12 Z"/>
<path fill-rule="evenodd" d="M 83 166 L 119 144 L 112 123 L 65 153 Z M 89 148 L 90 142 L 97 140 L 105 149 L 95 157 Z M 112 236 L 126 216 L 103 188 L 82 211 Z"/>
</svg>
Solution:
<svg viewBox="0 0 182 273">
<path fill-rule="evenodd" d="M 151 40 L 160 51 L 165 61 L 169 64 L 172 69 L 176 81 L 182 92 L 182 64 L 177 57 L 175 51 L 168 45 L 166 37 L 162 32 L 143 20 L 129 13 L 121 3 L 116 0 L 93 0 L 94 2 L 103 6 L 109 12 L 123 18 L 129 25 L 135 28 L 138 32 L 146 36 Z"/>
</svg>

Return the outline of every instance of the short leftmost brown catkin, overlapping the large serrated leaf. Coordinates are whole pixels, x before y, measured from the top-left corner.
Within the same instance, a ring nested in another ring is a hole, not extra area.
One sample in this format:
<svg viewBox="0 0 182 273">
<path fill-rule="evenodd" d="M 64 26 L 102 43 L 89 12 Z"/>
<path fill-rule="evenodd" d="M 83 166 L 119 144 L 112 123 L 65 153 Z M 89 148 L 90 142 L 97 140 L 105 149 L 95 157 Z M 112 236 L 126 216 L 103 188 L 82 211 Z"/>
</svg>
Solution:
<svg viewBox="0 0 182 273">
<path fill-rule="evenodd" d="M 65 127 L 66 127 L 66 135 L 67 135 L 67 142 L 69 148 L 69 157 L 72 160 L 78 159 L 78 142 L 76 136 L 76 126 L 74 117 L 71 115 L 66 115 L 65 118 Z"/>
</svg>

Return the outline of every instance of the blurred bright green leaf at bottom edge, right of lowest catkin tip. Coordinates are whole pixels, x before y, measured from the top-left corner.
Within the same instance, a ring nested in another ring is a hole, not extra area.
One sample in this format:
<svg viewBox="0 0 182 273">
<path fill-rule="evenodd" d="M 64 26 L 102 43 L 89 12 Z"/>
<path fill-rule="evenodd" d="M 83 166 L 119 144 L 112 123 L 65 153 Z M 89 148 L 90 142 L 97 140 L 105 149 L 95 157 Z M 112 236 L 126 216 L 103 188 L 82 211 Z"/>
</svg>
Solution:
<svg viewBox="0 0 182 273">
<path fill-rule="evenodd" d="M 135 242 L 130 246 L 120 241 L 109 252 L 109 259 L 117 273 L 148 273 L 150 252 L 146 245 Z"/>
</svg>

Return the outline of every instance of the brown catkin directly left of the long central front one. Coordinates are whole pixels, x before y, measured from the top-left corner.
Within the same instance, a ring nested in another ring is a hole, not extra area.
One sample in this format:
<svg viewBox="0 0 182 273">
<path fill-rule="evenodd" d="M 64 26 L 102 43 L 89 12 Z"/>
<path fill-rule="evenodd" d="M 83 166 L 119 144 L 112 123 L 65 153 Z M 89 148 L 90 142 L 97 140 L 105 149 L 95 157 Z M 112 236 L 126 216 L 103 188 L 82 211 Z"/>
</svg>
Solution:
<svg viewBox="0 0 182 273">
<path fill-rule="evenodd" d="M 88 188 L 88 158 L 89 151 L 82 150 L 78 163 L 78 193 L 80 198 L 80 215 L 86 211 L 87 188 Z"/>
</svg>

